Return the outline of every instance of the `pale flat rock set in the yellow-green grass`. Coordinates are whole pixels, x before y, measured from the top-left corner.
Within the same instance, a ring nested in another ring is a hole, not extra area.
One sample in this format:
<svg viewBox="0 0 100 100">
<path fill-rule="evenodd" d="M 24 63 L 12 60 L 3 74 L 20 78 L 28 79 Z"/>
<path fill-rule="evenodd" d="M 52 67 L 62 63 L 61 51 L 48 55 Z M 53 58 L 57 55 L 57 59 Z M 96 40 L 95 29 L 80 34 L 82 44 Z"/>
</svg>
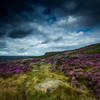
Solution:
<svg viewBox="0 0 100 100">
<path fill-rule="evenodd" d="M 37 85 L 35 85 L 34 88 L 38 91 L 52 92 L 53 90 L 55 90 L 60 85 L 60 83 L 61 83 L 60 80 L 47 78 L 43 82 L 38 83 Z"/>
</svg>

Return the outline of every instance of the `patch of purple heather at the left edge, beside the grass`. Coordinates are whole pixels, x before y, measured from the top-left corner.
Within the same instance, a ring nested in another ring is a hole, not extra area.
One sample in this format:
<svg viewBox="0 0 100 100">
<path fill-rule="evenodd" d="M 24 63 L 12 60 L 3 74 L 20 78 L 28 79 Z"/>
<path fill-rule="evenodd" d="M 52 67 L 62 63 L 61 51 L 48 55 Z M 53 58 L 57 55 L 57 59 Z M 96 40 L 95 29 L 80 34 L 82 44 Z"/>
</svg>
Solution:
<svg viewBox="0 0 100 100">
<path fill-rule="evenodd" d="M 32 67 L 26 63 L 24 65 L 18 65 L 17 63 L 0 63 L 0 76 L 7 77 L 13 74 L 24 73 L 25 71 L 31 70 Z"/>
</svg>

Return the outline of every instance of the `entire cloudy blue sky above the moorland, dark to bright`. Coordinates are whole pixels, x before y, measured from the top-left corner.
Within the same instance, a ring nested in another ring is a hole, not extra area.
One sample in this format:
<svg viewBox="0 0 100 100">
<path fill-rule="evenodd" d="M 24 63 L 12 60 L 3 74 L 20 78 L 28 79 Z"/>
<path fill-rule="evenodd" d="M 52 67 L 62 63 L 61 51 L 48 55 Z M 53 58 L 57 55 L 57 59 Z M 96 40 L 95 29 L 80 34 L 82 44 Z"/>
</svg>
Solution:
<svg viewBox="0 0 100 100">
<path fill-rule="evenodd" d="M 100 0 L 0 0 L 0 56 L 40 56 L 100 43 Z"/>
</svg>

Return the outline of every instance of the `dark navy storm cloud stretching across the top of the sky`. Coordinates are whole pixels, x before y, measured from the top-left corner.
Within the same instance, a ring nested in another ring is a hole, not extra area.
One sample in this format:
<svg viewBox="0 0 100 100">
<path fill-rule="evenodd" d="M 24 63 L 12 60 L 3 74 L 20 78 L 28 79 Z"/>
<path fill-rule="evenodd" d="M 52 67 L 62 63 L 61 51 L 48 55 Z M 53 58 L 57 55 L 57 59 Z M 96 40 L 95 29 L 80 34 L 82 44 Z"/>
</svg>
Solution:
<svg viewBox="0 0 100 100">
<path fill-rule="evenodd" d="M 95 26 L 100 24 L 100 0 L 1 0 L 0 1 L 0 23 L 12 23 L 18 20 L 29 20 L 29 13 L 37 15 L 36 7 L 46 7 L 43 14 L 50 15 L 55 13 L 59 15 L 76 15 L 85 17 L 83 24 Z M 21 13 L 26 12 L 26 15 Z M 17 16 L 16 16 L 17 15 Z M 19 17 L 19 16 L 20 17 Z M 22 17 L 23 18 L 22 18 Z M 38 17 L 39 15 L 37 15 Z M 31 17 L 31 15 L 30 15 Z M 33 16 L 32 19 L 36 17 Z M 31 19 L 31 20 L 32 20 Z M 40 18 L 41 19 L 41 18 Z M 54 17 L 47 19 L 48 22 L 56 20 Z M 3 22 L 2 22 L 3 21 Z"/>
</svg>

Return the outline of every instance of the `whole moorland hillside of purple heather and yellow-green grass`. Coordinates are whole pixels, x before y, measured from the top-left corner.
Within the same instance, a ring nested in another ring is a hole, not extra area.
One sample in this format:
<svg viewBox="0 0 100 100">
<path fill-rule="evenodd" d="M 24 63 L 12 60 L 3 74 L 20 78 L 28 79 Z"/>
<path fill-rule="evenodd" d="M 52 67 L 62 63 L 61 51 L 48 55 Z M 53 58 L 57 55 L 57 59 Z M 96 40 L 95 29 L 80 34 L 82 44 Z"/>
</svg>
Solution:
<svg viewBox="0 0 100 100">
<path fill-rule="evenodd" d="M 0 63 L 0 100 L 100 100 L 100 43 Z"/>
</svg>

